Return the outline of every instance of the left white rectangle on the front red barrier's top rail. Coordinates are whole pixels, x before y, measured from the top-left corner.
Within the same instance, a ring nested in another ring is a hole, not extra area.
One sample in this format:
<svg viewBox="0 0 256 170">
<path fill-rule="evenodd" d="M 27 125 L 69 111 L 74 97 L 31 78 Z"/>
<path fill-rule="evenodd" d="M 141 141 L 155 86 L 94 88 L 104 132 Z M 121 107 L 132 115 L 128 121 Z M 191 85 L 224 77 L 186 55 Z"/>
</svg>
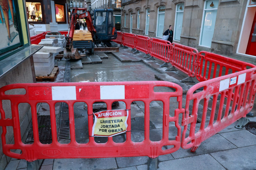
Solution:
<svg viewBox="0 0 256 170">
<path fill-rule="evenodd" d="M 76 86 L 52 86 L 52 100 L 76 100 Z"/>
</svg>

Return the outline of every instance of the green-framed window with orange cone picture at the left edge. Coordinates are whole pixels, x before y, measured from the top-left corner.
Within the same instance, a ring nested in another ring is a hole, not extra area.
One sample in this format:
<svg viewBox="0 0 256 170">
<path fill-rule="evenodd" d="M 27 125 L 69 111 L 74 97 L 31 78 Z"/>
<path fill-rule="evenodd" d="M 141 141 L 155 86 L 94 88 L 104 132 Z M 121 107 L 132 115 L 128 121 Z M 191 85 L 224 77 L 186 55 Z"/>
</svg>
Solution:
<svg viewBox="0 0 256 170">
<path fill-rule="evenodd" d="M 1 4 L 3 5 L 3 4 Z M 0 43 L 0 60 L 13 54 L 13 50 L 22 46 L 21 42 L 21 26 L 20 26 L 20 16 L 18 9 L 18 2 L 6 1 L 4 4 L 5 9 L 1 6 L 1 20 L 0 20 L 0 33 L 1 33 L 1 43 Z M 8 53 L 12 51 L 11 53 Z M 3 68 L 4 69 L 4 68 Z"/>
</svg>

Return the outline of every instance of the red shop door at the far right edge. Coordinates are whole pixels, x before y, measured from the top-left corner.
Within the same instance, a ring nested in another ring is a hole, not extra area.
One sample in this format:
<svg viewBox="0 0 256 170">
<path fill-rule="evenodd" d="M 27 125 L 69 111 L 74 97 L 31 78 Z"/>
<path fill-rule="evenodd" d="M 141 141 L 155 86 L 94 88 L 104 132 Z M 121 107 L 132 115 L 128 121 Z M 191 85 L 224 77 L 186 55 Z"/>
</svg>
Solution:
<svg viewBox="0 0 256 170">
<path fill-rule="evenodd" d="M 251 33 L 250 33 L 245 54 L 256 56 L 256 12 L 254 15 L 253 24 L 251 27 Z"/>
</svg>

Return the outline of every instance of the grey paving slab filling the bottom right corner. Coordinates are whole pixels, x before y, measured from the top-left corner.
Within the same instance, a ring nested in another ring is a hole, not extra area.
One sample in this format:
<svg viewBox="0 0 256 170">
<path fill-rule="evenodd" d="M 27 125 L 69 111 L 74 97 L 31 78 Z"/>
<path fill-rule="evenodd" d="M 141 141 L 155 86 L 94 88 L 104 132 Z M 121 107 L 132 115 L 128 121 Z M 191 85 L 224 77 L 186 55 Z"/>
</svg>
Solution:
<svg viewBox="0 0 256 170">
<path fill-rule="evenodd" d="M 256 146 L 246 146 L 210 155 L 228 170 L 255 170 L 256 167 Z"/>
</svg>

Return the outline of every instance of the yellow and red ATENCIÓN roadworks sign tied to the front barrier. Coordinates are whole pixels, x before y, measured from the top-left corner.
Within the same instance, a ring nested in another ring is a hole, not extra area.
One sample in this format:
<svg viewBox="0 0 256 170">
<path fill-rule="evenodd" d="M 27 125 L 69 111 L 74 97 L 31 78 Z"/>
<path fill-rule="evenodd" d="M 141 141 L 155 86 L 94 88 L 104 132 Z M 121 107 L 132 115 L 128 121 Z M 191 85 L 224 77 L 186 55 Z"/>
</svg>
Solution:
<svg viewBox="0 0 256 170">
<path fill-rule="evenodd" d="M 95 116 L 92 136 L 111 137 L 127 129 L 129 110 L 108 110 L 93 113 Z"/>
</svg>

